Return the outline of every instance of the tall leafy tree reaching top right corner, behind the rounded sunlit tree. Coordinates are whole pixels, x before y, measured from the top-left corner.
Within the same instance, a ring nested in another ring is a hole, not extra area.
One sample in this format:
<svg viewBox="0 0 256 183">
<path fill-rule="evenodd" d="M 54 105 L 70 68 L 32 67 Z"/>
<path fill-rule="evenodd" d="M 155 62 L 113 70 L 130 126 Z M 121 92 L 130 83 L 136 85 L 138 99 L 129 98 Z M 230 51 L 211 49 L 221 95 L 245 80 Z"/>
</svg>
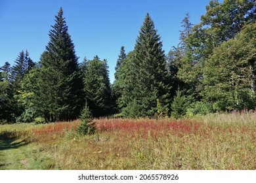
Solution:
<svg viewBox="0 0 256 183">
<path fill-rule="evenodd" d="M 234 38 L 244 25 L 255 22 L 256 18 L 254 0 L 210 1 L 206 11 L 186 39 L 190 49 L 185 52 L 178 72 L 198 100 L 203 97 L 203 67 L 213 49 Z"/>
</svg>

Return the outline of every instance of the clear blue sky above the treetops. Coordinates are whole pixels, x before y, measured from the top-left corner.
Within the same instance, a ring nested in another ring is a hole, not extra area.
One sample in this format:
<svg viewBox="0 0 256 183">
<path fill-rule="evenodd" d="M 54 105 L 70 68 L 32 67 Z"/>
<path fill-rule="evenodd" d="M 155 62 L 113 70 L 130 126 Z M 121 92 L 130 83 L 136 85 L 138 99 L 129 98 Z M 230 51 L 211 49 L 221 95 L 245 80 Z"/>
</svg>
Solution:
<svg viewBox="0 0 256 183">
<path fill-rule="evenodd" d="M 86 56 L 107 59 L 110 81 L 121 46 L 133 50 L 140 26 L 148 12 L 155 23 L 167 54 L 179 42 L 181 21 L 186 12 L 193 24 L 200 22 L 209 0 L 0 0 L 0 66 L 13 65 L 19 52 L 28 50 L 39 58 L 60 7 L 75 44 L 79 62 Z"/>
</svg>

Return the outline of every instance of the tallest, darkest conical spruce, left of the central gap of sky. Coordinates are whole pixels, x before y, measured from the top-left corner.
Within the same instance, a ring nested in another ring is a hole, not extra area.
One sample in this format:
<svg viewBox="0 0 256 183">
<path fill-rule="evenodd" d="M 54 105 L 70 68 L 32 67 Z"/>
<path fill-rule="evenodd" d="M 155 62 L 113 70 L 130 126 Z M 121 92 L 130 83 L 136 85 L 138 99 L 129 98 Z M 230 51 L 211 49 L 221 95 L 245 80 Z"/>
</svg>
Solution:
<svg viewBox="0 0 256 183">
<path fill-rule="evenodd" d="M 82 81 L 62 8 L 55 16 L 52 28 L 49 31 L 50 41 L 40 61 L 39 94 L 47 99 L 41 111 L 47 121 L 72 120 L 79 116 L 83 103 L 79 97 Z"/>
</svg>

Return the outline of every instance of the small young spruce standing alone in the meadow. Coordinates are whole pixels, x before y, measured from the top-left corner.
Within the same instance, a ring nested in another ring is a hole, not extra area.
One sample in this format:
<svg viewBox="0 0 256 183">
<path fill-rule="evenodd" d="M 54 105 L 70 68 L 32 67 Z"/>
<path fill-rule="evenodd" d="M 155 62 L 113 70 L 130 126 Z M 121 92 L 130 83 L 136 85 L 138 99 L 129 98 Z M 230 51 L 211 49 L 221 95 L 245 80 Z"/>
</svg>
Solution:
<svg viewBox="0 0 256 183">
<path fill-rule="evenodd" d="M 80 120 L 81 124 L 76 129 L 78 135 L 91 135 L 95 133 L 95 122 L 92 122 L 91 110 L 87 104 L 85 104 L 85 107 L 81 111 Z"/>
</svg>

